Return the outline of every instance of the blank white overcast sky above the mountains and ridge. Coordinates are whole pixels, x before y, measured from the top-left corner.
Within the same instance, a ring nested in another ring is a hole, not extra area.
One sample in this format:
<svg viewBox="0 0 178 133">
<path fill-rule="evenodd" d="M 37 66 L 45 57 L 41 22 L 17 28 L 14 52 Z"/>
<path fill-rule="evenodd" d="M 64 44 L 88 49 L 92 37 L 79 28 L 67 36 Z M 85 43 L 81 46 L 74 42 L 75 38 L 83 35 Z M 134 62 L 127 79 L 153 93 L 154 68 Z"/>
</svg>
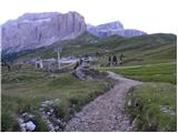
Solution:
<svg viewBox="0 0 178 133">
<path fill-rule="evenodd" d="M 178 0 L 0 0 L 0 23 L 27 12 L 77 11 L 93 25 L 117 21 L 148 33 L 178 31 Z"/>
</svg>

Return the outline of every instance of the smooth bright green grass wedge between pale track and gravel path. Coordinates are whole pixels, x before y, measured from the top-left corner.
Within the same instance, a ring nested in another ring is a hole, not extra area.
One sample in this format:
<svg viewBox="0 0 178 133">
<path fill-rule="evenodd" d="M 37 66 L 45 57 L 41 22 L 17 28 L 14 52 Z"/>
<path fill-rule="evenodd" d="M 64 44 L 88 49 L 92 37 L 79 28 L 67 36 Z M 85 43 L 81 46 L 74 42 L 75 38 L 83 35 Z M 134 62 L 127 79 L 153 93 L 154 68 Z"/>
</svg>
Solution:
<svg viewBox="0 0 178 133">
<path fill-rule="evenodd" d="M 158 65 L 142 65 L 136 68 L 105 68 L 102 71 L 112 71 L 118 74 L 122 74 L 126 78 L 140 80 L 145 82 L 168 82 L 177 83 L 177 70 L 176 63 L 158 64 Z"/>
</svg>

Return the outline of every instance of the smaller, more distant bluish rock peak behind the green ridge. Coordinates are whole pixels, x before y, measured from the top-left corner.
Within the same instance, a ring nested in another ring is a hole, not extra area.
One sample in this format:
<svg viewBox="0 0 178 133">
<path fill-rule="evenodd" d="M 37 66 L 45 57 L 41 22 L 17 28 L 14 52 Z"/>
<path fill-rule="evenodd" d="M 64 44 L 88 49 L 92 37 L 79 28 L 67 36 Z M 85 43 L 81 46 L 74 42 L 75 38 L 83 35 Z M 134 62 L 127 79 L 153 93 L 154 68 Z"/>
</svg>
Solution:
<svg viewBox="0 0 178 133">
<path fill-rule="evenodd" d="M 139 30 L 125 29 L 123 24 L 119 21 L 109 22 L 97 27 L 89 24 L 87 29 L 90 33 L 101 38 L 113 34 L 123 35 L 127 38 L 146 34 L 146 32 Z"/>
</svg>

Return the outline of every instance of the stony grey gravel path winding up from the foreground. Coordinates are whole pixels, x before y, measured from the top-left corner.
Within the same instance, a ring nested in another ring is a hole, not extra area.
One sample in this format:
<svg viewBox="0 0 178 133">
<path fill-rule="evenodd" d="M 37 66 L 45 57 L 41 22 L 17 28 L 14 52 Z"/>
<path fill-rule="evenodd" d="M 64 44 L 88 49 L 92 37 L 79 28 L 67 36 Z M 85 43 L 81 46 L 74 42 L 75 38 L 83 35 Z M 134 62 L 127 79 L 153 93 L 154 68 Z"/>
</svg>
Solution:
<svg viewBox="0 0 178 133">
<path fill-rule="evenodd" d="M 68 122 L 67 132 L 132 131 L 132 125 L 125 115 L 125 96 L 131 86 L 141 84 L 141 82 L 122 78 L 113 72 L 108 72 L 108 74 L 109 78 L 117 81 L 115 88 L 98 96 L 77 113 Z"/>
</svg>

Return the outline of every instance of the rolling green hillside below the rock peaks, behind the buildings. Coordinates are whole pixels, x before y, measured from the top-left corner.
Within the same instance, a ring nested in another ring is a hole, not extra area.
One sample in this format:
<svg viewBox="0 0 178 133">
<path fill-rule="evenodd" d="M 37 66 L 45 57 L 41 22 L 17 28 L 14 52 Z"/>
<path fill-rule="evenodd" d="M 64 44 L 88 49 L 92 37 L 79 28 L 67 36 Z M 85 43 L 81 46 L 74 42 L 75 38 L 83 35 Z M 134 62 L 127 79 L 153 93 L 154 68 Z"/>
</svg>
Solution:
<svg viewBox="0 0 178 133">
<path fill-rule="evenodd" d="M 119 35 L 98 39 L 88 32 L 75 40 L 56 42 L 50 47 L 14 53 L 17 59 L 57 58 L 57 47 L 62 48 L 61 55 L 81 55 L 82 53 L 102 53 L 99 64 L 107 64 L 108 53 L 122 53 L 123 65 L 160 63 L 176 61 L 177 37 L 175 34 L 156 33 L 134 38 Z"/>
</svg>

